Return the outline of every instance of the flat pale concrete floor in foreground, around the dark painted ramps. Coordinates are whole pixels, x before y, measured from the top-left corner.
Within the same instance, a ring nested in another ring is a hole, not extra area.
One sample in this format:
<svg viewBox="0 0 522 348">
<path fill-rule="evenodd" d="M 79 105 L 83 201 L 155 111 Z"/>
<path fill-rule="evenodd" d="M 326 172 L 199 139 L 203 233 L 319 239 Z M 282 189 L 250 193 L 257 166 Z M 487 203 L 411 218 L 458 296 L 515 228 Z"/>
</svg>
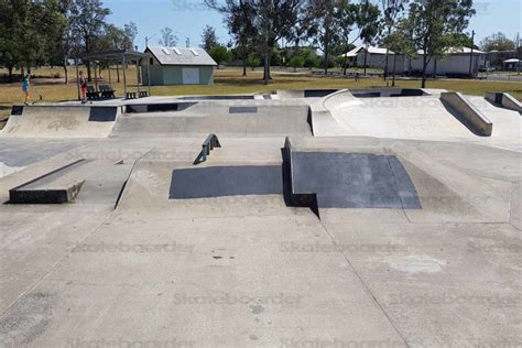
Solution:
<svg viewBox="0 0 522 348">
<path fill-rule="evenodd" d="M 202 137 L 0 138 L 2 202 L 75 159 L 123 160 L 74 204 L 0 206 L 0 346 L 520 346 L 521 153 L 392 138 L 292 137 L 396 155 L 422 205 L 320 219 L 282 195 L 168 199 Z M 282 163 L 284 135 L 220 142 L 199 167 Z"/>
</svg>

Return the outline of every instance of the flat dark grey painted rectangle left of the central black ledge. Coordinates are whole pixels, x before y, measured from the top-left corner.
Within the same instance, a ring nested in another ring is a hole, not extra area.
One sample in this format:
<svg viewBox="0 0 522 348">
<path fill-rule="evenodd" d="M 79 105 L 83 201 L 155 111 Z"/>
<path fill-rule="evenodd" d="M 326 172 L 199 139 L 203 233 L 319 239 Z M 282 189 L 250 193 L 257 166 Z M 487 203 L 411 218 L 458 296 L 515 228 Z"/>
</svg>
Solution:
<svg viewBox="0 0 522 348">
<path fill-rule="evenodd" d="M 282 194 L 281 165 L 214 166 L 175 170 L 172 173 L 170 199 Z"/>
</svg>

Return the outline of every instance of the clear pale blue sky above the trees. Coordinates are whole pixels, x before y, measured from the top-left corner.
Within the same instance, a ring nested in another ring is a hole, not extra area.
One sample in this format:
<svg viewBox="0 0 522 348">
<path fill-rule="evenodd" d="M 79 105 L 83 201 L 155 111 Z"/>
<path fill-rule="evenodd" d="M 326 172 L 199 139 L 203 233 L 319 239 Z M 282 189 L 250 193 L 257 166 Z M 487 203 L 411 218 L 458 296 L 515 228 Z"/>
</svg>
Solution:
<svg viewBox="0 0 522 348">
<path fill-rule="evenodd" d="M 176 32 L 180 46 L 185 45 L 187 37 L 192 46 L 200 45 L 203 29 L 206 25 L 216 29 L 219 42 L 225 44 L 229 41 L 221 15 L 207 9 L 203 0 L 102 0 L 102 2 L 112 11 L 109 22 L 118 26 L 129 22 L 138 25 L 139 34 L 134 44 L 140 51 L 145 47 L 145 36 L 152 37 L 149 45 L 156 45 L 160 31 L 165 26 Z M 518 32 L 522 35 L 522 1 L 475 0 L 475 9 L 477 14 L 471 19 L 468 31 L 475 30 L 476 43 L 497 32 L 504 33 L 511 40 Z"/>
</svg>

